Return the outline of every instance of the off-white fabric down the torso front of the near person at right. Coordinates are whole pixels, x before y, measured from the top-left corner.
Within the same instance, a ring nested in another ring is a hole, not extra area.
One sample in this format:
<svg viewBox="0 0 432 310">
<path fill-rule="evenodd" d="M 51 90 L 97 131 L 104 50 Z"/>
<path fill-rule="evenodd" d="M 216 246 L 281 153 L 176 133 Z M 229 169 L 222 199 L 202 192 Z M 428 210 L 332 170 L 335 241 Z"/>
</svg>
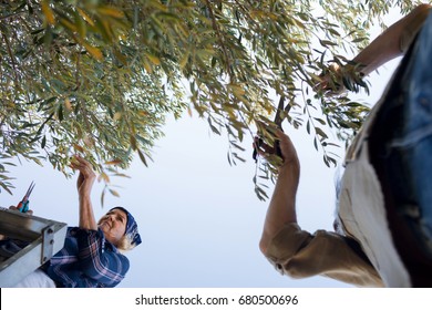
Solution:
<svg viewBox="0 0 432 310">
<path fill-rule="evenodd" d="M 378 111 L 383 105 L 387 91 L 373 106 L 347 152 L 339 216 L 344 231 L 359 240 L 384 285 L 402 288 L 411 287 L 411 279 L 395 249 L 387 220 L 381 185 L 370 164 L 368 149 L 368 136 Z"/>
</svg>

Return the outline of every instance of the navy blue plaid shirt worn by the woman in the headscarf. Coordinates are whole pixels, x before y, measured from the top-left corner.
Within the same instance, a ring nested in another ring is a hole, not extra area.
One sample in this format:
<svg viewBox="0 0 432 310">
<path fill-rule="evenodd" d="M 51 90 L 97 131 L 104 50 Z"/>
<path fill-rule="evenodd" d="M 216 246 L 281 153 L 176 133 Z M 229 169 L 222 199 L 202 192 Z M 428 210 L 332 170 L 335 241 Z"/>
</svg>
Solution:
<svg viewBox="0 0 432 310">
<path fill-rule="evenodd" d="M 128 259 L 109 242 L 102 230 L 69 227 L 64 247 L 45 266 L 59 287 L 115 287 L 130 268 Z"/>
</svg>

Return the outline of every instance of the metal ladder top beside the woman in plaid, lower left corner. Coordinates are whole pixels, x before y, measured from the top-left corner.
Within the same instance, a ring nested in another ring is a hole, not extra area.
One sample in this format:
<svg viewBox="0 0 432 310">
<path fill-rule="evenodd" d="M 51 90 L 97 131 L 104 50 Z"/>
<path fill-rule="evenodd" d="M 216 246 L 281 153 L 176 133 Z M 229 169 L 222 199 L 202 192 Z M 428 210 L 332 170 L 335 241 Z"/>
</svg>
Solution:
<svg viewBox="0 0 432 310">
<path fill-rule="evenodd" d="M 64 246 L 68 226 L 0 207 L 0 235 L 28 245 L 0 262 L 0 288 L 13 287 Z"/>
</svg>

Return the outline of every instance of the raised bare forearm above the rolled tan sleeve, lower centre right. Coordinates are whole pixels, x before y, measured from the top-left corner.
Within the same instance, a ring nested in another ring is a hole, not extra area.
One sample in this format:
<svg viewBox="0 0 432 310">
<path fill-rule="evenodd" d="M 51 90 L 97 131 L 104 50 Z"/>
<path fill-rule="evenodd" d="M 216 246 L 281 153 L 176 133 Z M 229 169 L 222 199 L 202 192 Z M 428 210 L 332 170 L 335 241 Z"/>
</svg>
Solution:
<svg viewBox="0 0 432 310">
<path fill-rule="evenodd" d="M 267 210 L 259 248 L 266 255 L 269 241 L 288 223 L 297 223 L 296 194 L 300 176 L 300 163 L 289 136 L 281 131 L 276 133 L 280 143 L 284 164 Z"/>
</svg>

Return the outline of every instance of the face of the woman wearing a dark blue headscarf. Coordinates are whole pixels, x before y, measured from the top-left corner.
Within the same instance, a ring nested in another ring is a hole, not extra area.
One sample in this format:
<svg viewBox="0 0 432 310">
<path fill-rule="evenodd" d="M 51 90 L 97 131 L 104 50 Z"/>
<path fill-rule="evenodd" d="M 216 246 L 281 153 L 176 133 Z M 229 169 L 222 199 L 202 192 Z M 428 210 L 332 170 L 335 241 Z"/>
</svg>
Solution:
<svg viewBox="0 0 432 310">
<path fill-rule="evenodd" d="M 127 215 L 121 209 L 112 209 L 99 220 L 99 227 L 106 240 L 117 246 L 126 231 Z"/>
</svg>

